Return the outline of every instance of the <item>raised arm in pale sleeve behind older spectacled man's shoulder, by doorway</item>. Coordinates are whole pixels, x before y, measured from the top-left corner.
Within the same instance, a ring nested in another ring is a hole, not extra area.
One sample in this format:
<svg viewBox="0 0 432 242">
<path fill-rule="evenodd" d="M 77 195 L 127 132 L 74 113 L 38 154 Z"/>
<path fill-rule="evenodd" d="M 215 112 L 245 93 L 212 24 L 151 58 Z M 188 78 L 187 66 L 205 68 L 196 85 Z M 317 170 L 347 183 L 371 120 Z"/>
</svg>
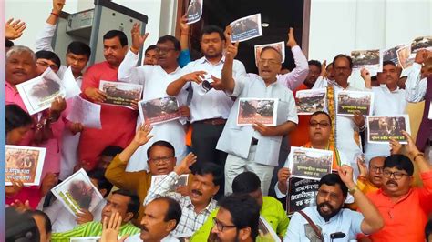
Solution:
<svg viewBox="0 0 432 242">
<path fill-rule="evenodd" d="M 303 84 L 304 79 L 309 73 L 309 65 L 302 49 L 300 49 L 300 46 L 297 45 L 297 42 L 295 41 L 293 28 L 290 28 L 290 31 L 288 32 L 286 46 L 291 48 L 295 68 L 292 72 L 279 76 L 278 82 L 282 82 L 284 86 L 287 86 L 291 90 L 295 90 L 298 86 Z"/>
</svg>

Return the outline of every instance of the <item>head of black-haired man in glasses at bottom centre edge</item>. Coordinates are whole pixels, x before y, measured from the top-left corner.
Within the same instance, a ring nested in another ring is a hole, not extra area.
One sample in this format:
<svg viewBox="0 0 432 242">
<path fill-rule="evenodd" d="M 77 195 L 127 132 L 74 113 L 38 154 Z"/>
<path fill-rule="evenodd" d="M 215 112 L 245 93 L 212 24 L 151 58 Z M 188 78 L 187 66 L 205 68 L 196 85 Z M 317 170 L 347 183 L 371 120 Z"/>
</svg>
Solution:
<svg viewBox="0 0 432 242">
<path fill-rule="evenodd" d="M 255 241 L 258 237 L 260 207 L 254 198 L 246 194 L 232 194 L 223 197 L 219 207 L 211 228 L 217 241 Z"/>
</svg>

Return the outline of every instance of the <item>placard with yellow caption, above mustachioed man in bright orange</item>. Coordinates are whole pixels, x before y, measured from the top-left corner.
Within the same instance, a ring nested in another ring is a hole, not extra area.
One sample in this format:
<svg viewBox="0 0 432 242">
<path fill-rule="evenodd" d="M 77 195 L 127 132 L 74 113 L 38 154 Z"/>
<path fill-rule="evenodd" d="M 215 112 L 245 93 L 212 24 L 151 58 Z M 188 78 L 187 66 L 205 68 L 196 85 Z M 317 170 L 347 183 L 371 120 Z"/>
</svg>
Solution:
<svg viewBox="0 0 432 242">
<path fill-rule="evenodd" d="M 389 143 L 390 139 L 407 143 L 402 130 L 410 133 L 408 116 L 366 116 L 366 122 L 369 143 Z"/>
</svg>

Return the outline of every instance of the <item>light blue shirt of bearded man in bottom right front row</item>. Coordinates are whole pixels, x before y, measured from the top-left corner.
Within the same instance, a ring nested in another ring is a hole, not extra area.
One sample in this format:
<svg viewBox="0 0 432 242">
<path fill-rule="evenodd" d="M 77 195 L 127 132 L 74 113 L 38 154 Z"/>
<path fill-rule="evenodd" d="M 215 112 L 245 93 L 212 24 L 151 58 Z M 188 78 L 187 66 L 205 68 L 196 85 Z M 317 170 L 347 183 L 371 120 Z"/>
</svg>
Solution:
<svg viewBox="0 0 432 242">
<path fill-rule="evenodd" d="M 334 217 L 325 222 L 324 218 L 320 216 L 314 207 L 306 207 L 303 212 L 314 221 L 317 227 L 321 228 L 321 233 L 324 241 L 331 241 L 330 235 L 336 232 L 345 233 L 344 238 L 338 238 L 334 241 L 349 241 L 356 239 L 356 235 L 362 233 L 361 225 L 363 222 L 363 215 L 359 212 L 350 209 L 342 208 L 341 211 Z M 306 236 L 309 235 L 309 236 Z M 308 237 L 315 237 L 314 229 L 309 225 L 307 220 L 299 213 L 294 213 L 291 217 L 290 224 L 286 230 L 283 241 L 310 241 Z"/>
</svg>

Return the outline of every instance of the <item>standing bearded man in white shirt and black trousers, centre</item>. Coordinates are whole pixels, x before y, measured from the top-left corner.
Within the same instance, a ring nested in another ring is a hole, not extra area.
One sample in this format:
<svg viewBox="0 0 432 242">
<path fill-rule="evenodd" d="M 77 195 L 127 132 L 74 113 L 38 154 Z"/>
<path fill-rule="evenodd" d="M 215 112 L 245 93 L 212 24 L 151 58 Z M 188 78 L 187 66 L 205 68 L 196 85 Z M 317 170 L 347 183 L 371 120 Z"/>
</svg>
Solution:
<svg viewBox="0 0 432 242">
<path fill-rule="evenodd" d="M 219 88 L 204 91 L 203 81 L 212 82 L 212 77 L 221 78 L 221 69 L 225 62 L 223 48 L 225 35 L 220 27 L 205 26 L 201 31 L 201 51 L 203 57 L 190 62 L 181 70 L 181 76 L 170 83 L 167 94 L 178 96 L 180 91 L 191 88 L 190 122 L 192 124 L 192 150 L 198 158 L 198 164 L 212 162 L 223 170 L 227 154 L 216 149 L 223 127 L 234 103 Z M 242 62 L 234 60 L 233 76 L 246 73 Z M 207 77 L 204 77 L 206 75 Z M 205 80 L 205 78 L 208 78 Z M 223 186 L 219 194 L 223 194 Z"/>
</svg>

